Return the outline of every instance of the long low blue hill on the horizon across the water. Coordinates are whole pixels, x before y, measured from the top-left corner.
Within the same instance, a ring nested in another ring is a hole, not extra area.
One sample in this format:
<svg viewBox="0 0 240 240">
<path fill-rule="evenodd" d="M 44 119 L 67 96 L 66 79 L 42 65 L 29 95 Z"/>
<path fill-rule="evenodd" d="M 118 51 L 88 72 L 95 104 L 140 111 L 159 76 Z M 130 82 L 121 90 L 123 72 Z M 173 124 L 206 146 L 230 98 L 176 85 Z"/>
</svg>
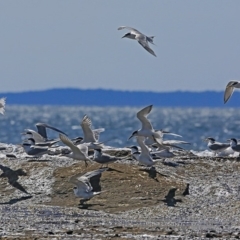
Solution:
<svg viewBox="0 0 240 240">
<path fill-rule="evenodd" d="M 18 93 L 0 93 L 7 104 L 82 105 L 82 106 L 145 106 L 161 107 L 239 107 L 240 92 L 235 91 L 227 104 L 223 92 L 133 92 L 117 90 L 50 89 Z"/>
</svg>

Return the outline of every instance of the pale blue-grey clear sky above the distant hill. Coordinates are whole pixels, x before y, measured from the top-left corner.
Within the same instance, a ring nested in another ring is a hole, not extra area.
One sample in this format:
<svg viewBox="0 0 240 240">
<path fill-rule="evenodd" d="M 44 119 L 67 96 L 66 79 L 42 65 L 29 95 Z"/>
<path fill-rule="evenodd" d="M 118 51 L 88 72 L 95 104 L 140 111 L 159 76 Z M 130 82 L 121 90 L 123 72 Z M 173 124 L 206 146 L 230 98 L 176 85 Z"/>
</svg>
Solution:
<svg viewBox="0 0 240 240">
<path fill-rule="evenodd" d="M 157 57 L 121 39 L 152 36 Z M 2 0 L 0 92 L 223 91 L 240 80 L 239 0 Z"/>
</svg>

